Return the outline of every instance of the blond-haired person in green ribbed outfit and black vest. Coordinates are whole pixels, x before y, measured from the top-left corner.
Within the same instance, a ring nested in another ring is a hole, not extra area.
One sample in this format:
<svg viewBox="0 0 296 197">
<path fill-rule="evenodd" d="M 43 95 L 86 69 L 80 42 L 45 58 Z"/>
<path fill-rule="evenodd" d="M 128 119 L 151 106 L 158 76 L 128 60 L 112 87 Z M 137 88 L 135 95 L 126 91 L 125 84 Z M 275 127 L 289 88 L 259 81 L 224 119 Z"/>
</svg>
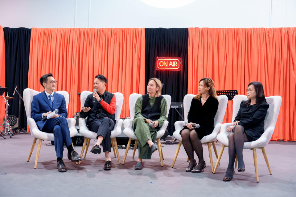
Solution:
<svg viewBox="0 0 296 197">
<path fill-rule="evenodd" d="M 140 96 L 135 104 L 135 118 L 132 122 L 138 138 L 139 156 L 135 170 L 142 170 L 142 159 L 151 159 L 158 150 L 154 144 L 156 134 L 167 120 L 167 100 L 161 96 L 162 84 L 158 78 L 149 79 L 147 94 Z"/>
</svg>

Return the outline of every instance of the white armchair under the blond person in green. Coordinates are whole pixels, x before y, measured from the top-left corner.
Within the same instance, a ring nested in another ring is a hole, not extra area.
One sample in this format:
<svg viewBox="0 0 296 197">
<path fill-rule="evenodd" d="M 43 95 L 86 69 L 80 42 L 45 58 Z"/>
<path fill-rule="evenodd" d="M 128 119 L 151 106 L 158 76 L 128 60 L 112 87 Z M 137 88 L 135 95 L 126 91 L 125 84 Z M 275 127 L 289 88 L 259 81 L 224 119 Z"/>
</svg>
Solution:
<svg viewBox="0 0 296 197">
<path fill-rule="evenodd" d="M 136 152 L 136 149 L 137 149 L 138 138 L 134 134 L 134 131 L 132 130 L 132 122 L 133 122 L 134 117 L 135 117 L 135 104 L 136 104 L 137 99 L 140 96 L 142 96 L 142 94 L 133 93 L 133 94 L 130 95 L 130 119 L 125 119 L 123 121 L 123 125 L 124 125 L 123 133 L 127 137 L 129 137 L 129 141 L 127 143 L 127 147 L 126 147 L 126 151 L 125 151 L 125 154 L 124 154 L 122 165 L 125 162 L 126 155 L 127 155 L 128 151 L 129 151 L 130 143 L 131 143 L 132 139 L 135 139 L 136 140 L 135 147 L 134 147 L 133 158 L 135 156 L 135 152 Z M 171 96 L 170 95 L 167 95 L 167 94 L 162 95 L 162 96 L 167 100 L 167 116 L 168 116 L 169 115 L 169 111 L 170 111 L 170 106 L 171 106 L 171 100 L 172 99 L 171 99 Z M 164 121 L 162 127 L 160 127 L 159 131 L 157 131 L 157 135 L 156 135 L 156 141 L 157 141 L 157 145 L 158 145 L 158 152 L 159 152 L 159 158 L 160 158 L 161 167 L 163 167 L 162 160 L 164 158 L 163 158 L 162 148 L 161 148 L 161 144 L 160 144 L 160 138 L 164 135 L 164 133 L 165 133 L 165 131 L 167 129 L 167 125 L 168 124 L 169 124 L 169 122 L 167 120 Z"/>
</svg>

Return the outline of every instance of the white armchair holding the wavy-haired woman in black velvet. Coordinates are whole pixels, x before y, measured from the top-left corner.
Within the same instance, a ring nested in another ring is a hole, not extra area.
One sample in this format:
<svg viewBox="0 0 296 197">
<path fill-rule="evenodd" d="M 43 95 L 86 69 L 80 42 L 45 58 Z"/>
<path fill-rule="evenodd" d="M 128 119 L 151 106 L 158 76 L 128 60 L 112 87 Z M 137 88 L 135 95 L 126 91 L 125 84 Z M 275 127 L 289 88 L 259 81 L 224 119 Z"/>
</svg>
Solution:
<svg viewBox="0 0 296 197">
<path fill-rule="evenodd" d="M 175 165 L 175 162 L 176 162 L 176 159 L 177 159 L 177 156 L 178 156 L 181 144 L 182 144 L 182 137 L 180 135 L 180 131 L 181 131 L 181 129 L 183 129 L 183 125 L 188 123 L 187 122 L 188 121 L 187 116 L 188 116 L 188 113 L 189 113 L 191 100 L 192 100 L 193 97 L 195 97 L 194 94 L 186 94 L 185 95 L 184 101 L 183 101 L 183 104 L 184 104 L 184 120 L 185 121 L 177 121 L 177 122 L 175 122 L 176 131 L 173 133 L 173 135 L 174 135 L 174 137 L 176 139 L 179 140 L 179 144 L 178 144 L 178 147 L 177 147 L 177 151 L 176 151 L 176 154 L 175 154 L 175 158 L 174 158 L 172 167 L 174 167 L 174 165 Z M 208 145 L 212 172 L 213 172 L 213 159 L 212 159 L 211 143 L 213 145 L 214 152 L 215 152 L 215 155 L 216 155 L 216 158 L 217 158 L 218 154 L 217 154 L 216 145 L 215 145 L 214 141 L 216 140 L 216 136 L 218 135 L 218 133 L 220 131 L 220 127 L 221 127 L 221 124 L 222 124 L 223 119 L 224 119 L 228 98 L 227 98 L 226 95 L 220 95 L 220 96 L 218 96 L 218 101 L 219 101 L 218 110 L 217 110 L 217 113 L 216 113 L 215 118 L 214 118 L 214 126 L 215 126 L 214 130 L 212 131 L 212 133 L 210 135 L 206 135 L 200 140 L 201 143 L 204 143 L 204 144 Z"/>
</svg>

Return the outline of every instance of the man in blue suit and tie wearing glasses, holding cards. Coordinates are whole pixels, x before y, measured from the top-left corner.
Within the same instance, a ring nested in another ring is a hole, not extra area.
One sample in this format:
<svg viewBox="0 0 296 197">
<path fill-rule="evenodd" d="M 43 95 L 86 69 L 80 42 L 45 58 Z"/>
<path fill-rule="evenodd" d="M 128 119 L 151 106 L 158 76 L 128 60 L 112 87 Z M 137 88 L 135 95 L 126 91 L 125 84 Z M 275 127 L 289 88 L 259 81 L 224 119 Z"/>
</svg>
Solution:
<svg viewBox="0 0 296 197">
<path fill-rule="evenodd" d="M 35 120 L 39 130 L 54 134 L 57 168 L 59 172 L 65 172 L 67 171 L 67 167 L 62 159 L 64 143 L 68 149 L 68 159 L 72 162 L 82 160 L 72 146 L 66 119 L 68 116 L 66 101 L 63 95 L 54 92 L 56 81 L 51 73 L 43 75 L 40 78 L 40 84 L 45 91 L 33 96 L 31 118 Z M 47 115 L 55 111 L 55 109 L 57 109 L 58 112 L 47 119 Z"/>
</svg>

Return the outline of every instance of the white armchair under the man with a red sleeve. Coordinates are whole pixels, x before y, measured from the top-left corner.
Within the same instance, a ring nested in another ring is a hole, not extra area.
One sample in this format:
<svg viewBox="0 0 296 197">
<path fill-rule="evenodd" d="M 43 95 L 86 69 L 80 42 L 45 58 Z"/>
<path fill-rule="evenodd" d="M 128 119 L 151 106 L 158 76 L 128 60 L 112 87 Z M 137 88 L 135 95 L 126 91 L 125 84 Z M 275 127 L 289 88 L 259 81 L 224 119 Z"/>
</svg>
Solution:
<svg viewBox="0 0 296 197">
<path fill-rule="evenodd" d="M 84 105 L 85 100 L 89 94 L 92 94 L 92 92 L 90 92 L 90 91 L 81 92 L 81 95 L 80 95 L 81 106 Z M 114 125 L 114 130 L 111 131 L 111 144 L 112 144 L 112 148 L 113 148 L 113 152 L 114 152 L 114 157 L 116 157 L 116 155 L 117 155 L 118 163 L 120 164 L 120 157 L 119 157 L 116 137 L 121 134 L 121 127 L 122 127 L 123 120 L 120 119 L 120 114 L 121 114 L 121 108 L 122 108 L 122 104 L 123 104 L 123 94 L 121 94 L 120 92 L 116 92 L 116 93 L 114 93 L 114 95 L 116 97 L 116 111 L 115 111 L 116 124 Z M 86 150 L 85 150 L 84 157 L 86 157 L 86 153 L 88 151 L 90 140 L 91 139 L 97 140 L 97 133 L 90 131 L 86 127 L 86 119 L 84 119 L 84 118 L 79 119 L 79 127 L 80 127 L 80 129 L 79 129 L 80 134 L 82 136 L 84 136 L 84 143 L 83 143 L 83 146 L 81 149 L 80 157 L 83 156 L 85 146 L 86 146 Z M 79 164 L 80 163 L 81 162 L 79 162 Z"/>
</svg>

